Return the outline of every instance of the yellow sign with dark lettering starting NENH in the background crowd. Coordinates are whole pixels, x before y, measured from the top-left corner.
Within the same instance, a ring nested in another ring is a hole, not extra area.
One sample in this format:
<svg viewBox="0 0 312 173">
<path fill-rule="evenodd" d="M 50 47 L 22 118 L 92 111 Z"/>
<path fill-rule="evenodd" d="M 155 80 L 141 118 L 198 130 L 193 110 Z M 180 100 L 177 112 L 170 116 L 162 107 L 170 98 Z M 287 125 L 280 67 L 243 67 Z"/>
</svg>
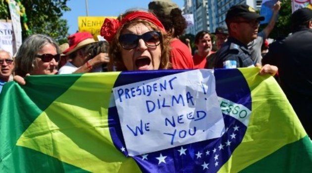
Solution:
<svg viewBox="0 0 312 173">
<path fill-rule="evenodd" d="M 100 35 L 101 27 L 104 23 L 105 18 L 113 18 L 114 16 L 78 16 L 78 31 L 89 32 L 92 34 L 95 40 L 98 40 Z"/>
</svg>

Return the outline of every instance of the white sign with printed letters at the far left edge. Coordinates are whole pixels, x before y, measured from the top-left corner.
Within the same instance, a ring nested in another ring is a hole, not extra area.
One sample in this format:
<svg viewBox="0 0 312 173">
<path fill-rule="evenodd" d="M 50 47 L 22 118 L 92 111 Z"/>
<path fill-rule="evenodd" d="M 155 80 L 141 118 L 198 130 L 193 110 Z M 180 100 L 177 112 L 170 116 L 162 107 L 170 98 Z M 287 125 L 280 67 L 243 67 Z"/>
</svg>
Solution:
<svg viewBox="0 0 312 173">
<path fill-rule="evenodd" d="M 0 22 L 0 49 L 10 52 L 13 56 L 12 23 Z"/>
</svg>

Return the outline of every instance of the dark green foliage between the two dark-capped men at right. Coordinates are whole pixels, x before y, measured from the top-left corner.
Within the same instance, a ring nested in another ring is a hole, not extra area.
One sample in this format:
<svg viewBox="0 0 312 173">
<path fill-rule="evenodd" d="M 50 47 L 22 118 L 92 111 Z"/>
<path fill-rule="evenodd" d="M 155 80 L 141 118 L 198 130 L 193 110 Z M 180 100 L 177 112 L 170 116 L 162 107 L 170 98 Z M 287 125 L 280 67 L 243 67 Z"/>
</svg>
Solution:
<svg viewBox="0 0 312 173">
<path fill-rule="evenodd" d="M 290 16 L 292 14 L 291 0 L 284 0 L 281 3 L 281 9 L 279 10 L 278 20 L 275 27 L 269 35 L 269 38 L 278 40 L 288 36 L 291 32 L 290 28 Z M 265 28 L 266 25 L 261 25 L 260 30 Z"/>
</svg>

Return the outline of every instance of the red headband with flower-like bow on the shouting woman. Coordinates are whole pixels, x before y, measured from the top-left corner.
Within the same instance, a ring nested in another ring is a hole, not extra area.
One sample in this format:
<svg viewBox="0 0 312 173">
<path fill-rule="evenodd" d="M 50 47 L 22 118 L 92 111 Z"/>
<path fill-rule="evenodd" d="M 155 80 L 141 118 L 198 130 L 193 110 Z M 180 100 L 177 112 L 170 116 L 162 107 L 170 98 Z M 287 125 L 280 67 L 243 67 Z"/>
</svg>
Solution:
<svg viewBox="0 0 312 173">
<path fill-rule="evenodd" d="M 160 30 L 165 32 L 165 29 L 161 22 L 156 18 L 155 15 L 149 12 L 144 11 L 135 11 L 128 15 L 126 15 L 121 21 L 117 19 L 109 19 L 106 18 L 104 20 L 104 23 L 101 28 L 101 36 L 104 37 L 104 39 L 107 40 L 107 42 L 111 42 L 113 38 L 115 37 L 117 30 L 119 27 L 121 27 L 126 22 L 129 22 L 134 19 L 142 19 L 142 20 L 148 20 L 155 24 L 157 27 L 159 27 Z"/>
</svg>

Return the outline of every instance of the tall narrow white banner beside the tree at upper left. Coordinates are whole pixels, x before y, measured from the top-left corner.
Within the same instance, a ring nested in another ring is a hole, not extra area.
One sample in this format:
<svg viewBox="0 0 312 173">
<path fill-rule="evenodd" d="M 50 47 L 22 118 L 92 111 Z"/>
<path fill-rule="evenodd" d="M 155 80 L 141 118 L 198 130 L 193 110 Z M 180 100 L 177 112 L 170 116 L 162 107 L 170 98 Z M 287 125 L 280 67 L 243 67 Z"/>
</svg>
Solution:
<svg viewBox="0 0 312 173">
<path fill-rule="evenodd" d="M 11 14 L 11 20 L 13 25 L 13 33 L 14 33 L 14 40 L 13 42 L 13 53 L 17 52 L 18 48 L 22 44 L 22 26 L 20 21 L 20 8 L 18 4 L 15 2 L 15 0 L 9 1 L 9 9 Z"/>
</svg>

